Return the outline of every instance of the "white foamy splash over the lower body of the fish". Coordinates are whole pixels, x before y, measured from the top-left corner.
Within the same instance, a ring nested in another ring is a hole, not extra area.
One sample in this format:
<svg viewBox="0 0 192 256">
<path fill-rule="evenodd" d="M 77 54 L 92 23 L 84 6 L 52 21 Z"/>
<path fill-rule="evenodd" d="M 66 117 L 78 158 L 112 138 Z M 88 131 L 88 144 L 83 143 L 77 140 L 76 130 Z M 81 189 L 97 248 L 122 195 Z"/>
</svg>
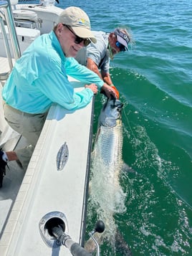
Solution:
<svg viewBox="0 0 192 256">
<path fill-rule="evenodd" d="M 120 166 L 119 166 L 120 168 Z M 120 170 L 115 170 L 119 174 Z M 120 186 L 118 175 L 113 176 L 111 166 L 107 166 L 102 159 L 97 158 L 97 146 L 95 156 L 92 157 L 91 179 L 90 179 L 90 202 L 96 208 L 97 219 L 105 223 L 105 234 L 103 237 L 114 242 L 116 224 L 114 214 L 126 211 L 126 194 Z"/>
</svg>

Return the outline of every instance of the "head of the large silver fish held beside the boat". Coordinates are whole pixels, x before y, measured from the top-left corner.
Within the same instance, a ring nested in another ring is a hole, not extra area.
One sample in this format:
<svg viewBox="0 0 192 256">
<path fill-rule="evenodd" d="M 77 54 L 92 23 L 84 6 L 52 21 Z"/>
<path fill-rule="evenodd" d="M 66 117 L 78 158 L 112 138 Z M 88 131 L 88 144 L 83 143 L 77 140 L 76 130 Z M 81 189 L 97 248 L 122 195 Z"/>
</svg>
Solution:
<svg viewBox="0 0 192 256">
<path fill-rule="evenodd" d="M 123 103 L 114 97 L 108 98 L 107 102 L 103 105 L 100 113 L 100 125 L 107 127 L 115 127 L 117 120 L 121 118 L 121 109 Z"/>
</svg>

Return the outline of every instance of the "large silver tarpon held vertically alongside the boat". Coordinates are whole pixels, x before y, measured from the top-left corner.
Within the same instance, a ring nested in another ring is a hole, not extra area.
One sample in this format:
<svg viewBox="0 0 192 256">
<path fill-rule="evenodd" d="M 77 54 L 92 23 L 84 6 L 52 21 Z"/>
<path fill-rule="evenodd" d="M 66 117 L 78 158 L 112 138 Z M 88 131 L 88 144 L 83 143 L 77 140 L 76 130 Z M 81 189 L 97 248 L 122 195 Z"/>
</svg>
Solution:
<svg viewBox="0 0 192 256">
<path fill-rule="evenodd" d="M 124 165 L 122 108 L 123 103 L 115 98 L 108 99 L 102 107 L 92 152 L 90 204 L 97 210 L 97 218 L 105 223 L 105 232 L 102 237 L 97 234 L 98 242 L 104 238 L 114 247 L 113 250 L 117 249 L 115 245 L 123 246 L 124 254 L 122 255 L 131 255 L 128 245 L 117 231 L 113 217 L 115 213 L 125 212 L 125 193 L 119 181 L 119 174 Z M 117 243 L 116 239 L 118 239 Z M 94 244 L 89 240 L 85 248 L 91 252 Z"/>
</svg>

